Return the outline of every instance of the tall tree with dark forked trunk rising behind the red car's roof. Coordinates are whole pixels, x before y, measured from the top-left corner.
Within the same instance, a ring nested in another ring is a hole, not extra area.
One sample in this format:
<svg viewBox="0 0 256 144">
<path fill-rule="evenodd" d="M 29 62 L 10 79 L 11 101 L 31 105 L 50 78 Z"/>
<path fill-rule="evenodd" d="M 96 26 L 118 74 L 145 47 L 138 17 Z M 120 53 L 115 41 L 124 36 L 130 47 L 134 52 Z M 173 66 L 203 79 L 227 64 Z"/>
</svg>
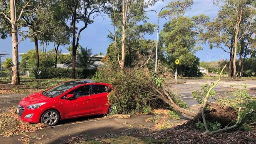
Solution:
<svg viewBox="0 0 256 144">
<path fill-rule="evenodd" d="M 76 78 L 76 53 L 81 32 L 95 21 L 97 16 L 109 11 L 109 0 L 63 0 L 72 31 L 72 78 Z M 82 26 L 78 29 L 77 23 Z"/>
</svg>

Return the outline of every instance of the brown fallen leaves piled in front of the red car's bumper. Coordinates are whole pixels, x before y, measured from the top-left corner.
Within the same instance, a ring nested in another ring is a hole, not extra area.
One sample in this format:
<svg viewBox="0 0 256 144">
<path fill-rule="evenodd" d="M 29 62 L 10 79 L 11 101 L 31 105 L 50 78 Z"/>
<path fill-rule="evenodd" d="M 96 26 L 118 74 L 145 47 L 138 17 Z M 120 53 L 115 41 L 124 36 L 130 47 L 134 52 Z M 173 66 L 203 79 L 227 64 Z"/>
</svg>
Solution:
<svg viewBox="0 0 256 144">
<path fill-rule="evenodd" d="M 16 112 L 16 107 L 10 107 L 8 112 L 0 113 L 0 135 L 11 137 L 14 135 L 22 135 L 29 132 L 35 132 L 43 129 L 45 124 L 29 124 L 23 122 Z"/>
</svg>

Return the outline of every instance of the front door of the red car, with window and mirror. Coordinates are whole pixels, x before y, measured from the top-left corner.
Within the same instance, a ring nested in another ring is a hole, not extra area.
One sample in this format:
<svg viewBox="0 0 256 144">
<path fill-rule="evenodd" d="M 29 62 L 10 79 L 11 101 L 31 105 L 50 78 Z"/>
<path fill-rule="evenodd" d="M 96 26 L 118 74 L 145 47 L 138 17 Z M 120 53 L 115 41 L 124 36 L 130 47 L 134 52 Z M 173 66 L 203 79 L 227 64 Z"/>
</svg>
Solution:
<svg viewBox="0 0 256 144">
<path fill-rule="evenodd" d="M 65 99 L 65 95 L 63 97 L 64 117 L 71 118 L 89 115 L 93 105 L 90 96 L 91 92 L 91 85 L 84 85 L 68 93 L 73 94 L 73 98 Z"/>
</svg>

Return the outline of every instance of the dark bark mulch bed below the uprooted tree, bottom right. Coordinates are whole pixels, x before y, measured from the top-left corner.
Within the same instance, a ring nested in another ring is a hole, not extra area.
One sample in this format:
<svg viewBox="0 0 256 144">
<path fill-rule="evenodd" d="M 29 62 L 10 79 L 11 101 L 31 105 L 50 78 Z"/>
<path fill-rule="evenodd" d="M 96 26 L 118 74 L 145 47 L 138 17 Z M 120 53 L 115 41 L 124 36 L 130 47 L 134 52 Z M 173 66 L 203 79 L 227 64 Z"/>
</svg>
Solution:
<svg viewBox="0 0 256 144">
<path fill-rule="evenodd" d="M 137 138 L 152 138 L 165 140 L 166 144 L 255 144 L 256 129 L 252 131 L 230 131 L 201 137 L 200 131 L 190 128 L 173 128 L 151 133 L 139 132 L 134 135 Z"/>
</svg>

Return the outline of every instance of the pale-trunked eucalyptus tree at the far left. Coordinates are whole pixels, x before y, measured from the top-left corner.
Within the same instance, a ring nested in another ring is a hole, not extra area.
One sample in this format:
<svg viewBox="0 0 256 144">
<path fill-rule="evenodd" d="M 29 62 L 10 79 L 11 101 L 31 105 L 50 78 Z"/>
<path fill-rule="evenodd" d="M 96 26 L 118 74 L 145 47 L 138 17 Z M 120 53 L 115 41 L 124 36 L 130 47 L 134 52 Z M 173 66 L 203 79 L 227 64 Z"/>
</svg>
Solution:
<svg viewBox="0 0 256 144">
<path fill-rule="evenodd" d="M 18 49 L 19 43 L 23 40 L 18 40 L 18 34 L 23 35 L 20 32 L 22 25 L 22 16 L 24 13 L 34 11 L 37 7 L 34 7 L 32 0 L 1 0 L 0 3 L 0 32 L 1 37 L 6 38 L 7 34 L 12 37 L 12 84 L 17 85 L 20 83 L 19 76 L 19 62 L 18 62 Z"/>
</svg>

